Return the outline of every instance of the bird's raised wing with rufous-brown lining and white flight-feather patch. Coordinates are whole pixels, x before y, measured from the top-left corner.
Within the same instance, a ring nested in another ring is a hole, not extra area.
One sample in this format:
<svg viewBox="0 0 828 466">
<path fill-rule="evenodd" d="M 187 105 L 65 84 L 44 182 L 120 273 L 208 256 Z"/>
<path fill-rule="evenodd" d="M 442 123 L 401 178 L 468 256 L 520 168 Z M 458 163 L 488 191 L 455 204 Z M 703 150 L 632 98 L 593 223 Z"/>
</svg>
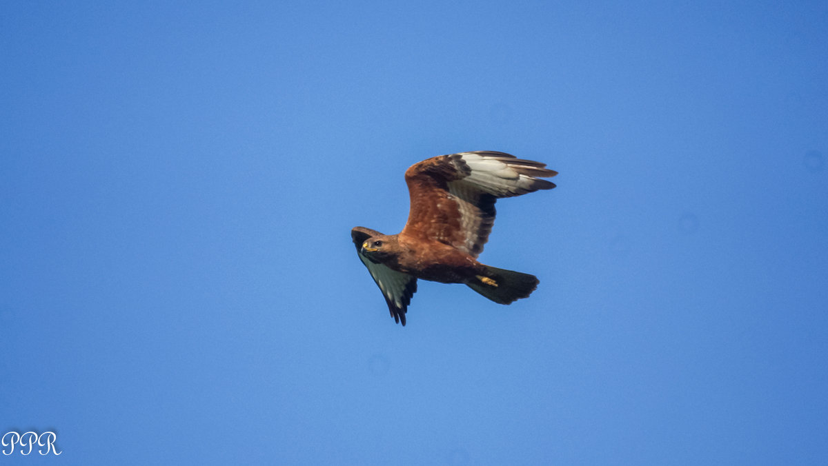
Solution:
<svg viewBox="0 0 828 466">
<path fill-rule="evenodd" d="M 431 157 L 406 171 L 411 196 L 400 236 L 437 240 L 472 257 L 483 251 L 499 198 L 551 190 L 546 164 L 495 151 Z"/>
</svg>

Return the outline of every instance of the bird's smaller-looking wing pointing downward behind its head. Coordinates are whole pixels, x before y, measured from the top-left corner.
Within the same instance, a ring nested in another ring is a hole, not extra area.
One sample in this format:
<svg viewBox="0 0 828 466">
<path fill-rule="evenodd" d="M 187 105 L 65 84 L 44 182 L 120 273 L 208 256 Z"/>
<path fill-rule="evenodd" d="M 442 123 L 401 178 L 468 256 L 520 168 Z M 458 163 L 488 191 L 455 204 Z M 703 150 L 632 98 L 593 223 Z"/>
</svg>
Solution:
<svg viewBox="0 0 828 466">
<path fill-rule="evenodd" d="M 388 304 L 388 311 L 397 323 L 406 324 L 406 310 L 409 303 L 411 303 L 412 296 L 416 293 L 416 278 L 402 273 L 401 271 L 392 270 L 378 262 L 371 262 L 368 257 L 362 255 L 362 243 L 366 239 L 382 235 L 378 231 L 371 228 L 356 227 L 351 230 L 351 238 L 354 240 L 354 245 L 357 247 L 357 255 L 359 260 L 368 268 L 371 273 L 373 281 L 377 282 L 379 290 L 383 291 L 385 302 Z"/>
</svg>

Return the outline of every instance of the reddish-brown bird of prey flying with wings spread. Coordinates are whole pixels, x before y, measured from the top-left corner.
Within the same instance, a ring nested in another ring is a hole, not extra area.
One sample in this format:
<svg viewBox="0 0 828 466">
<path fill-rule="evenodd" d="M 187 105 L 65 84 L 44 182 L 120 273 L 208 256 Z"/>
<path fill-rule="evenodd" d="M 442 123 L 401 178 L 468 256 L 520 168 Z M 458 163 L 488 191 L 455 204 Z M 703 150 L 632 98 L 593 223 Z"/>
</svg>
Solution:
<svg viewBox="0 0 828 466">
<path fill-rule="evenodd" d="M 474 151 L 431 157 L 408 168 L 411 207 L 402 232 L 351 230 L 359 259 L 397 323 L 406 324 L 418 278 L 464 283 L 504 305 L 535 291 L 535 276 L 489 267 L 476 257 L 489 240 L 497 199 L 555 187 L 542 180 L 557 175 L 545 167 L 503 152 Z"/>
</svg>

